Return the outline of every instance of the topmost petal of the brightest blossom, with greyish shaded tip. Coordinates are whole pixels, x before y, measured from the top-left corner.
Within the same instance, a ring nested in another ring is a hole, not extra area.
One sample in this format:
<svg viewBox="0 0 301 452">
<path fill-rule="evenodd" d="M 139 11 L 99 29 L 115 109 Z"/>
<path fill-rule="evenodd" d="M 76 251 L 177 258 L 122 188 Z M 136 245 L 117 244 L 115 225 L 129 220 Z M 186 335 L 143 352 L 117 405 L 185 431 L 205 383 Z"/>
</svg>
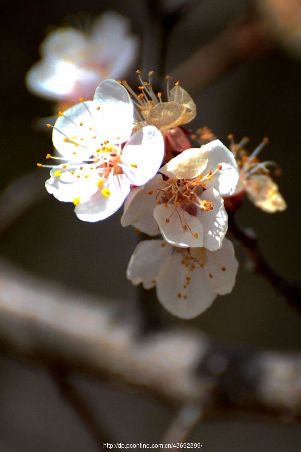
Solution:
<svg viewBox="0 0 301 452">
<path fill-rule="evenodd" d="M 99 103 L 107 126 L 114 128 L 119 141 L 128 140 L 133 128 L 134 106 L 127 90 L 116 80 L 104 80 L 96 88 L 93 100 Z"/>
</svg>

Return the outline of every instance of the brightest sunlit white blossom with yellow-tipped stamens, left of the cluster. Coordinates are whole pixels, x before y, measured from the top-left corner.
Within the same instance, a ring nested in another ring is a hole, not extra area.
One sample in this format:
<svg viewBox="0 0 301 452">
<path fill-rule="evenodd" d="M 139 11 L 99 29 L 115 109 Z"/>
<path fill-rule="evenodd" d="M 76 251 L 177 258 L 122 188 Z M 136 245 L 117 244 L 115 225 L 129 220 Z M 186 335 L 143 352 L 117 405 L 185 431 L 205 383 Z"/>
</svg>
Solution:
<svg viewBox="0 0 301 452">
<path fill-rule="evenodd" d="M 64 163 L 50 171 L 47 191 L 60 201 L 73 202 L 75 213 L 84 221 L 113 214 L 130 185 L 145 184 L 163 158 L 164 142 L 158 129 L 142 127 L 131 136 L 132 129 L 129 94 L 115 80 L 105 80 L 94 100 L 61 113 L 53 126 L 52 141 L 62 156 L 53 158 Z"/>
</svg>

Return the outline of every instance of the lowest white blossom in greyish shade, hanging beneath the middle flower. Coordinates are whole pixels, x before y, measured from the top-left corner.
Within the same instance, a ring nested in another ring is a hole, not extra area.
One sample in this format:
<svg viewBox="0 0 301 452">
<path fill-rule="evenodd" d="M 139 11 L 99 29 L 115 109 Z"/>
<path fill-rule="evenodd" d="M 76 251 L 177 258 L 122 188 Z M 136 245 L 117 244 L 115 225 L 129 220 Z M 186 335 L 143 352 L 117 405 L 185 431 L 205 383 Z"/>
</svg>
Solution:
<svg viewBox="0 0 301 452">
<path fill-rule="evenodd" d="M 162 240 L 140 242 L 128 264 L 127 278 L 145 289 L 156 285 L 158 300 L 173 315 L 190 319 L 204 312 L 216 295 L 230 293 L 238 263 L 232 243 L 217 251 L 178 248 Z"/>
</svg>

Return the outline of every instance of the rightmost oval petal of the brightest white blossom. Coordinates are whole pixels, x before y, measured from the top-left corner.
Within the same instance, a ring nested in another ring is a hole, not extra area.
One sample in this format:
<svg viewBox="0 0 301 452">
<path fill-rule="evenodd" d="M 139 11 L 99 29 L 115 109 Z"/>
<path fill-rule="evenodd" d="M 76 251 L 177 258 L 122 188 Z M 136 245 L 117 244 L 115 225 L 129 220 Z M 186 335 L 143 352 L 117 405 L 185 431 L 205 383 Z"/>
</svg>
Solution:
<svg viewBox="0 0 301 452">
<path fill-rule="evenodd" d="M 122 161 L 132 184 L 143 185 L 157 173 L 164 155 L 164 140 L 154 126 L 139 129 L 122 151 Z"/>
</svg>

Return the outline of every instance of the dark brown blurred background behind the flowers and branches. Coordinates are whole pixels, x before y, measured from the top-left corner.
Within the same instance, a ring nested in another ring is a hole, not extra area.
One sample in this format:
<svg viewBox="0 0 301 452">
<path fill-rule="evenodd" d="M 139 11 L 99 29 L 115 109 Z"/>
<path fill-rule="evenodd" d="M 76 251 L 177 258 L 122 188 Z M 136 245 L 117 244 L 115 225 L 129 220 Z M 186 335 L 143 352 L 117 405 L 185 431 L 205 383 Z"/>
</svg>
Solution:
<svg viewBox="0 0 301 452">
<path fill-rule="evenodd" d="M 52 152 L 52 145 L 49 133 L 37 131 L 34 120 L 51 115 L 53 106 L 30 94 L 24 77 L 39 59 L 38 47 L 47 29 L 68 23 L 71 15 L 83 9 L 91 17 L 107 9 L 116 10 L 129 18 L 132 32 L 140 38 L 142 56 L 137 57 L 133 72 L 138 68 L 159 70 L 157 40 L 158 36 L 159 39 L 166 36 L 158 32 L 156 9 L 167 8 L 172 12 L 181 4 L 180 0 L 87 0 L 84 4 L 53 0 L 31 6 L 6 2 L 0 18 L 3 60 L 0 183 L 5 190 L 9 184 L 18 183 L 24 175 L 35 171 L 36 184 L 42 187 L 37 191 L 42 194 L 21 217 L 4 228 L 0 237 L 2 257 L 43 280 L 109 299 L 116 303 L 117 310 L 129 316 L 137 312 L 145 315 L 145 310 L 147 313 L 150 309 L 149 321 L 155 319 L 155 326 L 191 327 L 219 344 L 242 349 L 298 351 L 301 345 L 298 311 L 261 276 L 247 271 L 243 248 L 236 247 L 240 268 L 233 292 L 219 297 L 204 314 L 188 324 L 172 317 L 156 301 L 151 308 L 143 304 L 142 292 L 126 280 L 125 270 L 138 236 L 134 229 L 121 230 L 121 212 L 104 222 L 85 223 L 77 219 L 73 205 L 43 195 L 43 180 L 48 178 L 48 171 L 39 169 L 45 177 L 41 176 L 35 165 Z M 288 4 L 293 4 L 296 14 L 286 14 Z M 268 215 L 246 200 L 237 219 L 256 232 L 261 252 L 270 266 L 288 281 L 299 283 L 300 10 L 297 0 L 187 2 L 164 42 L 166 55 L 161 68 L 163 74 L 184 74 L 181 85 L 197 105 L 197 116 L 189 125 L 192 129 L 206 125 L 225 144 L 229 133 L 234 133 L 238 140 L 247 135 L 251 139 L 250 150 L 263 137 L 269 137 L 270 143 L 261 158 L 276 161 L 283 170 L 276 182 L 288 209 Z M 246 28 L 237 34 L 235 31 L 223 34 L 229 27 L 237 30 L 238 24 L 246 24 Z M 207 49 L 206 57 L 198 60 L 197 67 L 194 65 L 192 75 L 185 74 L 179 66 L 200 48 Z M 212 76 L 206 75 L 209 70 Z M 198 72 L 200 79 L 204 79 L 200 85 L 193 82 Z M 35 185 L 33 180 L 31 176 L 31 185 Z M 22 190 L 22 185 L 19 189 Z M 85 425 L 61 398 L 48 370 L 10 355 L 3 347 L 0 352 L 0 451 L 98 450 Z M 97 376 L 92 379 L 75 371 L 71 379 L 101 420 L 102 428 L 116 441 L 159 443 L 174 416 L 171 409 L 133 388 L 130 393 L 124 392 L 99 381 Z M 271 421 L 264 415 L 246 415 L 243 419 L 232 416 L 199 424 L 191 441 L 203 442 L 206 452 L 280 452 L 283 449 L 293 452 L 301 449 L 301 431 L 297 425 Z"/>
</svg>

